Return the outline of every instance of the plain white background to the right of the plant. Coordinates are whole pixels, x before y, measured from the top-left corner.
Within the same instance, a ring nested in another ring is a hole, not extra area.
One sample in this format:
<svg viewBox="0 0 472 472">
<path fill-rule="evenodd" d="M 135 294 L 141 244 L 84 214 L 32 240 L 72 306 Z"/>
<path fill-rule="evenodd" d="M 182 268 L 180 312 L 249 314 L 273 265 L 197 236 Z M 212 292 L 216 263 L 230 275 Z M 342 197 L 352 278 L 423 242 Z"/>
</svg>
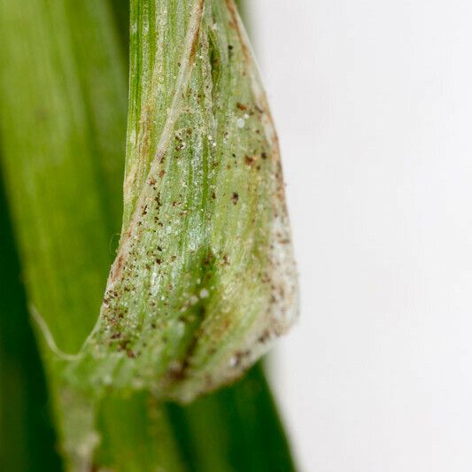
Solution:
<svg viewBox="0 0 472 472">
<path fill-rule="evenodd" d="M 249 0 L 301 318 L 304 472 L 472 470 L 472 2 Z"/>
</svg>

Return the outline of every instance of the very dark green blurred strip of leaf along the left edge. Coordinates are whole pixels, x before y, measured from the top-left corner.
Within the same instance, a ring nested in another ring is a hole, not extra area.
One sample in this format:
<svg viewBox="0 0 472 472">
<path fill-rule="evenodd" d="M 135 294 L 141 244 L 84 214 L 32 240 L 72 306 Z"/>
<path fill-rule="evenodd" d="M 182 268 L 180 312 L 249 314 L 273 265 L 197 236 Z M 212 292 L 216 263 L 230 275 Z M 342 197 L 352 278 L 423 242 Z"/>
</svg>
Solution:
<svg viewBox="0 0 472 472">
<path fill-rule="evenodd" d="M 8 216 L 0 179 L 0 470 L 55 472 L 60 462 L 43 368 Z"/>
</svg>

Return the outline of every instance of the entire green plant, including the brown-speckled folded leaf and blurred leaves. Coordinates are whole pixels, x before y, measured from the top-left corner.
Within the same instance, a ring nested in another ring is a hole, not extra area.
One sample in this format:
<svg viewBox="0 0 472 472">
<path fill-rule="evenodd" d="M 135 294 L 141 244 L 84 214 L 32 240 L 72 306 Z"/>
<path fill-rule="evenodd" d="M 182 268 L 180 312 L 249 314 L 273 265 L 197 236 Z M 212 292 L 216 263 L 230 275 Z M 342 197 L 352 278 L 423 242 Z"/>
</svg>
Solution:
<svg viewBox="0 0 472 472">
<path fill-rule="evenodd" d="M 67 470 L 292 470 L 261 368 L 244 376 L 297 314 L 244 27 L 232 0 L 131 0 L 128 34 L 127 9 L 0 0 L 3 269 L 18 247 L 26 290 L 1 315 L 33 320 Z"/>
</svg>

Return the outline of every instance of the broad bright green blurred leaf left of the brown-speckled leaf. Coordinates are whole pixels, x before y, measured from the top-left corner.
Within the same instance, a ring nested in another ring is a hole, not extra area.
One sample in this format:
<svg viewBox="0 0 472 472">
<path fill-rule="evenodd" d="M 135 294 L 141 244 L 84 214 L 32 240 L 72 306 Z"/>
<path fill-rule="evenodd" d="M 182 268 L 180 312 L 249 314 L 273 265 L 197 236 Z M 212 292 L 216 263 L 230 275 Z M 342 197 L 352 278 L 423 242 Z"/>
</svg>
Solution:
<svg viewBox="0 0 472 472">
<path fill-rule="evenodd" d="M 106 4 L 0 1 L 6 187 L 30 301 L 66 352 L 97 321 L 122 211 L 126 73 Z"/>
</svg>

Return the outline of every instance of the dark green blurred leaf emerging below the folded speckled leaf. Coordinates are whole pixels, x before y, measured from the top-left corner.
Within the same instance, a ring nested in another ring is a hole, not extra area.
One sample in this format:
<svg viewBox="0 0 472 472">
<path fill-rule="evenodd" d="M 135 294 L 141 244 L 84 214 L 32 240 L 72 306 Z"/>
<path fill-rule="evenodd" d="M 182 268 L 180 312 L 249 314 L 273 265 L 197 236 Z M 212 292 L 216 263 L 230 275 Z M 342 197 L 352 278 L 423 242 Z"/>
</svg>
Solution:
<svg viewBox="0 0 472 472">
<path fill-rule="evenodd" d="M 275 403 L 256 365 L 231 387 L 179 408 L 169 406 L 191 470 L 290 472 L 295 466 Z"/>
</svg>

